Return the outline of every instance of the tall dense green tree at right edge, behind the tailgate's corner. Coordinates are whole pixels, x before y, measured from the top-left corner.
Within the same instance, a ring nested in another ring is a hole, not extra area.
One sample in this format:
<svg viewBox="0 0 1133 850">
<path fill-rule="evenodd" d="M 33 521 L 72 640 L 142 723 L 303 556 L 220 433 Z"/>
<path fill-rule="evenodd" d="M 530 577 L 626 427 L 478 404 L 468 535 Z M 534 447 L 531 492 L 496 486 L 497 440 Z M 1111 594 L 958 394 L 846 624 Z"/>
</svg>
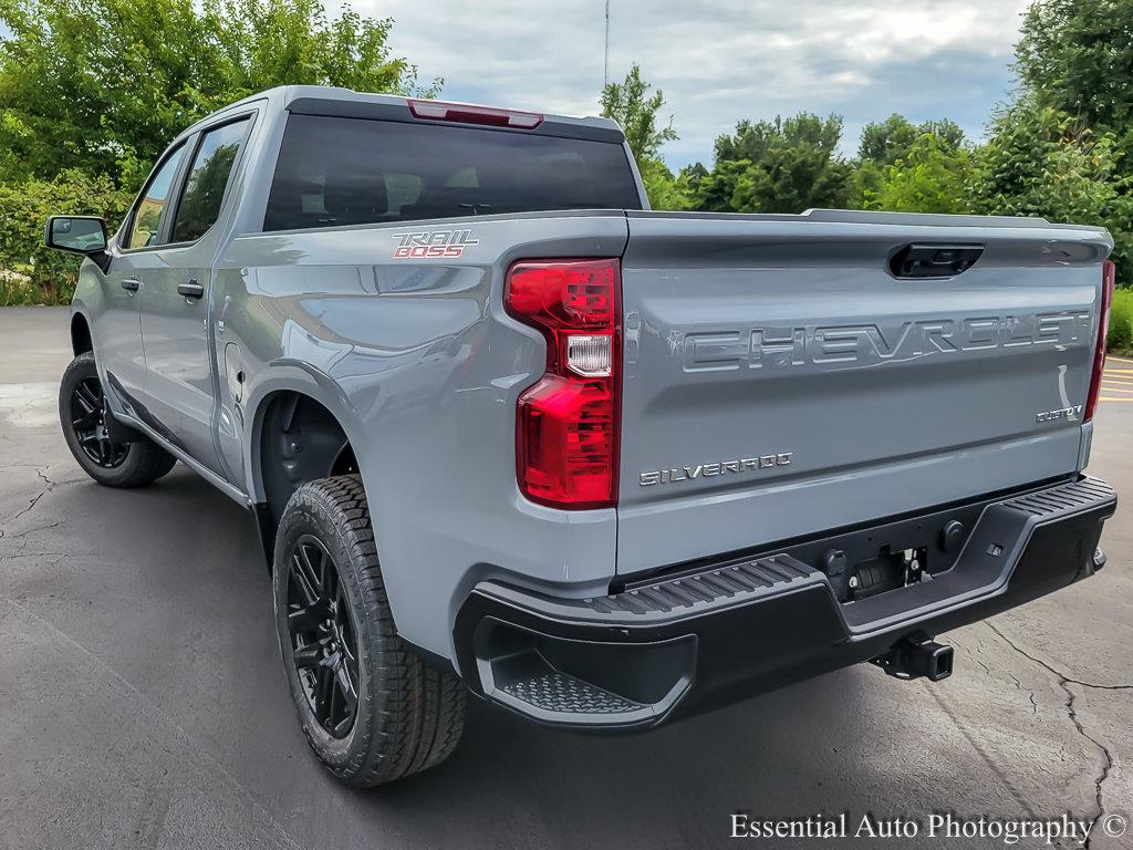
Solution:
<svg viewBox="0 0 1133 850">
<path fill-rule="evenodd" d="M 1034 0 L 1015 59 L 1023 90 L 993 119 L 981 209 L 1102 224 L 1133 281 L 1133 0 Z"/>
</svg>

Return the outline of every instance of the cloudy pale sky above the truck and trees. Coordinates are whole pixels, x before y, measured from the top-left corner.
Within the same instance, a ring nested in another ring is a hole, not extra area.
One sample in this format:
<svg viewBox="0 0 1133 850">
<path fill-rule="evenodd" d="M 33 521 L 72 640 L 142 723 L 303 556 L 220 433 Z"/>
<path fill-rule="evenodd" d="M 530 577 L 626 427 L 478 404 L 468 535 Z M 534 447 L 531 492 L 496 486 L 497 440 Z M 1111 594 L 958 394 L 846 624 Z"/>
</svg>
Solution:
<svg viewBox="0 0 1133 850">
<path fill-rule="evenodd" d="M 393 17 L 391 43 L 442 97 L 595 114 L 605 0 L 355 0 Z M 611 0 L 610 77 L 630 62 L 665 93 L 673 167 L 712 158 L 741 118 L 800 110 L 861 127 L 902 112 L 952 118 L 979 137 L 1013 85 L 1025 0 Z M 327 2 L 334 8 L 334 0 Z"/>
</svg>

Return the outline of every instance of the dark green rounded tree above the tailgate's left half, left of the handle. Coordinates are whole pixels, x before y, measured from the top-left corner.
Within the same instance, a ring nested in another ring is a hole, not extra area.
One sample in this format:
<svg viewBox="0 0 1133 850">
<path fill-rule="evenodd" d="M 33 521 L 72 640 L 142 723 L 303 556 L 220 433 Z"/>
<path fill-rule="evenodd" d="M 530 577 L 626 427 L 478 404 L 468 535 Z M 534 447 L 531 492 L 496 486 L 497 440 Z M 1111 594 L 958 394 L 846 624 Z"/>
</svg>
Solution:
<svg viewBox="0 0 1133 850">
<path fill-rule="evenodd" d="M 852 168 L 837 154 L 842 118 L 802 112 L 774 121 L 740 121 L 716 139 L 716 162 L 689 181 L 699 210 L 802 212 L 845 206 Z"/>
</svg>

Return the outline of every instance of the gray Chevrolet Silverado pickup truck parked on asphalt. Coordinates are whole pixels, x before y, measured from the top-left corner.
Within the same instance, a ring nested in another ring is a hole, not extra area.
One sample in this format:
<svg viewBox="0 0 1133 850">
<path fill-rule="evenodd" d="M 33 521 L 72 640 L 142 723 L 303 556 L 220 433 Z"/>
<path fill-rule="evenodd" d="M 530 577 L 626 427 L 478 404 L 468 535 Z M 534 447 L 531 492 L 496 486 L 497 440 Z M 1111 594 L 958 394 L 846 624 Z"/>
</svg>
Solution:
<svg viewBox="0 0 1133 850">
<path fill-rule="evenodd" d="M 252 511 L 352 784 L 445 758 L 467 690 L 629 730 L 944 679 L 940 632 L 1105 563 L 1097 228 L 650 212 L 611 121 L 299 86 L 45 238 L 87 257 L 71 452 Z"/>
</svg>

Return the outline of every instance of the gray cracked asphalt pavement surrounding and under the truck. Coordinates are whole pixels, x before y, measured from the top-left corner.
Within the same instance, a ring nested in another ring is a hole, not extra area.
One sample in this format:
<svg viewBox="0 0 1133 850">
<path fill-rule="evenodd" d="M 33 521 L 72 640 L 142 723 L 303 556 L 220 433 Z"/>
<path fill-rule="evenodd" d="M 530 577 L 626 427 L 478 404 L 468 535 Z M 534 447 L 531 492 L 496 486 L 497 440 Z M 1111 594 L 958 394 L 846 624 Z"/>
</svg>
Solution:
<svg viewBox="0 0 1133 850">
<path fill-rule="evenodd" d="M 1133 847 L 1102 830 L 1133 810 L 1131 360 L 1110 362 L 1090 465 L 1122 500 L 1108 566 L 951 632 L 947 681 L 862 665 L 624 738 L 477 703 L 450 762 L 359 792 L 299 732 L 250 517 L 181 465 L 123 492 L 69 456 L 67 321 L 0 311 L 0 848 L 715 847 L 738 813 L 920 824 L 854 847 L 1004 847 L 929 839 L 946 811 L 1102 814 L 1090 847 Z"/>
</svg>

